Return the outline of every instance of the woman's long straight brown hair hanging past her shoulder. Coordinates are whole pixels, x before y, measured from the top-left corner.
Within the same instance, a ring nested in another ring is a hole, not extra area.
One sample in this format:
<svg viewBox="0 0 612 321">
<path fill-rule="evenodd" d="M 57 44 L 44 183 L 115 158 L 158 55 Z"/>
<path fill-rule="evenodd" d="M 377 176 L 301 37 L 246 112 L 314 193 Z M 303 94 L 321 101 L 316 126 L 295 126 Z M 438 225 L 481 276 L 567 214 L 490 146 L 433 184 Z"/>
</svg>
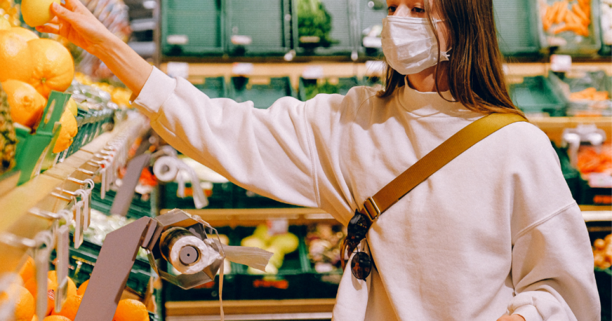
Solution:
<svg viewBox="0 0 612 321">
<path fill-rule="evenodd" d="M 433 0 L 442 20 L 449 27 L 452 46 L 448 62 L 450 94 L 466 108 L 480 113 L 512 113 L 524 116 L 510 100 L 506 79 L 502 69 L 502 54 L 499 51 L 493 15 L 492 0 Z M 425 0 L 425 12 L 430 27 L 435 31 L 440 61 L 440 40 L 431 17 L 431 6 Z M 435 68 L 436 91 L 438 88 L 439 64 Z M 378 97 L 389 97 L 395 89 L 403 86 L 404 75 L 387 64 L 385 87 Z M 444 98 L 444 97 L 442 97 Z M 445 98 L 446 99 L 446 98 Z"/>
</svg>

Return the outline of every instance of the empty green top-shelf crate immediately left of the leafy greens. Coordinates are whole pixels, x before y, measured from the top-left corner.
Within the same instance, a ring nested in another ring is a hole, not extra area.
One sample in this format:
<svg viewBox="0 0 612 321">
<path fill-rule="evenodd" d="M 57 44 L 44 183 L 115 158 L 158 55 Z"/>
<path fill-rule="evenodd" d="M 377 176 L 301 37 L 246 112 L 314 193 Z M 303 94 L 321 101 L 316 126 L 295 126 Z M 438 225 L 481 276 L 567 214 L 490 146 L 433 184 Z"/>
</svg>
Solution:
<svg viewBox="0 0 612 321">
<path fill-rule="evenodd" d="M 226 6 L 228 53 L 266 56 L 291 50 L 289 0 L 226 0 Z M 235 44 L 235 36 L 250 37 L 251 43 Z"/>
</svg>

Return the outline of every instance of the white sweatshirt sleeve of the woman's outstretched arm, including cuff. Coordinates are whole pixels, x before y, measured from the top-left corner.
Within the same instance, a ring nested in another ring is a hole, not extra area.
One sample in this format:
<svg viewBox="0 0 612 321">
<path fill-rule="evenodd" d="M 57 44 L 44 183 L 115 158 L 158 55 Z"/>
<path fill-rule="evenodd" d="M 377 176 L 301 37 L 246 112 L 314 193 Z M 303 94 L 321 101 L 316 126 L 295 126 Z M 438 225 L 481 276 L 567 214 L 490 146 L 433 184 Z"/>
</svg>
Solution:
<svg viewBox="0 0 612 321">
<path fill-rule="evenodd" d="M 154 68 L 136 107 L 188 157 L 255 193 L 318 207 L 306 104 L 284 97 L 268 109 L 252 101 L 209 98 Z"/>
</svg>

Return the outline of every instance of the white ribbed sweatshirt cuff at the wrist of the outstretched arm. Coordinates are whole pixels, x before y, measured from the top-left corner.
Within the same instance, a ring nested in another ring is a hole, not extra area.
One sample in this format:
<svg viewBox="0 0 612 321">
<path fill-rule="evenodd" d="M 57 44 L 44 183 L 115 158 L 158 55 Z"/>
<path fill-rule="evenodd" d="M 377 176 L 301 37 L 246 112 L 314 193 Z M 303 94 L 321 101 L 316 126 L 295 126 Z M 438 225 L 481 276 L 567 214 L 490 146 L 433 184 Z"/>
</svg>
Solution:
<svg viewBox="0 0 612 321">
<path fill-rule="evenodd" d="M 140 94 L 133 101 L 133 105 L 138 107 L 140 111 L 149 119 L 153 120 L 162 108 L 163 103 L 168 100 L 168 97 L 174 92 L 176 80 L 163 73 L 156 67 L 153 67 L 151 75 L 144 83 Z"/>
</svg>

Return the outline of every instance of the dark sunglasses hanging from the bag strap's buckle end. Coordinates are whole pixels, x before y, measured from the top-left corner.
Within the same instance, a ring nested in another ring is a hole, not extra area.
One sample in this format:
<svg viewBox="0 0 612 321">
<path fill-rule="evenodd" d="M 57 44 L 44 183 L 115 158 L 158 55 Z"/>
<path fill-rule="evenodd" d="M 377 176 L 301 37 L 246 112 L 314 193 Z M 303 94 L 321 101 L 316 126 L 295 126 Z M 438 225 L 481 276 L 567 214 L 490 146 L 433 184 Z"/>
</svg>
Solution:
<svg viewBox="0 0 612 321">
<path fill-rule="evenodd" d="M 355 215 L 351 218 L 351 221 L 348 223 L 348 229 L 346 231 L 346 237 L 342 241 L 340 246 L 341 249 L 341 265 L 344 270 L 346 265 L 346 256 L 351 256 L 351 253 L 355 251 L 357 245 L 365 238 L 365 235 L 368 233 L 368 229 L 372 221 L 370 218 L 360 213 L 359 211 L 355 211 Z M 357 253 L 351 260 L 351 273 L 353 276 L 360 280 L 365 280 L 365 278 L 370 275 L 372 270 L 372 259 L 370 254 L 359 251 L 357 249 Z"/>
</svg>

